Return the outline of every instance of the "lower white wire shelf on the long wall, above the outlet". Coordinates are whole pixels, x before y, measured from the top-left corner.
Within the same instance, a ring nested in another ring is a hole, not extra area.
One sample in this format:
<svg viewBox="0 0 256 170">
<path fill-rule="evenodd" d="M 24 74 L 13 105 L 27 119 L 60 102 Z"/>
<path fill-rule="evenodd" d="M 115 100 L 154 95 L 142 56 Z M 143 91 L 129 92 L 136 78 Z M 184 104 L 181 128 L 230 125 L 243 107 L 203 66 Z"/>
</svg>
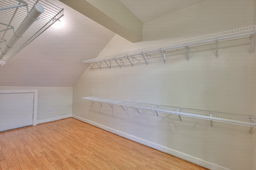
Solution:
<svg viewBox="0 0 256 170">
<path fill-rule="evenodd" d="M 211 121 L 218 121 L 224 123 L 231 123 L 236 125 L 243 125 L 250 127 L 249 132 L 252 132 L 252 128 L 256 127 L 256 117 L 253 115 L 241 115 L 241 114 L 233 114 L 233 113 L 222 113 L 222 112 L 214 112 L 214 111 L 204 111 L 204 110 L 197 110 L 197 109 L 187 109 L 181 107 L 172 107 L 172 106 L 163 106 L 163 105 L 154 105 L 154 104 L 147 104 L 147 103 L 138 103 L 132 101 L 122 101 L 122 100 L 115 100 L 115 99 L 106 99 L 102 97 L 82 97 L 84 100 L 89 100 L 93 103 L 96 101 L 100 103 L 100 111 L 102 111 L 102 103 L 108 103 L 111 107 L 113 105 L 119 105 L 123 109 L 125 107 L 132 107 L 135 108 L 139 113 L 140 109 L 148 110 L 148 111 L 155 111 L 158 115 L 159 112 L 162 113 L 169 113 L 178 115 L 181 121 L 180 116 L 186 117 L 194 117 L 198 119 L 206 119 Z"/>
</svg>

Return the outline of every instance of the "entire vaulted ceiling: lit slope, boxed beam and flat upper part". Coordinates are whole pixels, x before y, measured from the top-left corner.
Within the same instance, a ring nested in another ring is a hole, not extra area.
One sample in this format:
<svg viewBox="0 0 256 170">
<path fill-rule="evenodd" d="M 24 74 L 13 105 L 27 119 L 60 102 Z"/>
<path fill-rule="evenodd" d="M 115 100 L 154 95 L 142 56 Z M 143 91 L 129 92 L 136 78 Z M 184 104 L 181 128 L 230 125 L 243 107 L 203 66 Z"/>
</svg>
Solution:
<svg viewBox="0 0 256 170">
<path fill-rule="evenodd" d="M 143 23 L 203 0 L 108 0 L 107 4 L 100 4 L 100 0 L 69 0 L 90 3 L 94 13 L 87 14 L 80 11 L 84 6 L 74 10 L 74 3 L 68 4 L 71 8 L 60 1 L 50 0 L 64 8 L 60 20 L 63 26 L 57 28 L 54 24 L 0 67 L 0 86 L 73 86 L 88 67 L 82 61 L 97 57 L 115 34 L 132 38 L 131 42 L 143 40 Z M 127 17 L 136 24 L 135 30 L 127 26 L 130 23 L 124 23 Z"/>
</svg>

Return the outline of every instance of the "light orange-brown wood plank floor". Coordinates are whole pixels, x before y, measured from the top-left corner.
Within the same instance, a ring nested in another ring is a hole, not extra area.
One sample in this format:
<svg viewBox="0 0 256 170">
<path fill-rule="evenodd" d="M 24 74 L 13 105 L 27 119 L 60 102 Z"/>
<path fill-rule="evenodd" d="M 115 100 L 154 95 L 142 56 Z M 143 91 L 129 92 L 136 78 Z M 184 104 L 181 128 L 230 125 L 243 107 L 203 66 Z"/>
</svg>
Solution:
<svg viewBox="0 0 256 170">
<path fill-rule="evenodd" d="M 0 133 L 2 170 L 205 170 L 73 118 Z"/>
</svg>

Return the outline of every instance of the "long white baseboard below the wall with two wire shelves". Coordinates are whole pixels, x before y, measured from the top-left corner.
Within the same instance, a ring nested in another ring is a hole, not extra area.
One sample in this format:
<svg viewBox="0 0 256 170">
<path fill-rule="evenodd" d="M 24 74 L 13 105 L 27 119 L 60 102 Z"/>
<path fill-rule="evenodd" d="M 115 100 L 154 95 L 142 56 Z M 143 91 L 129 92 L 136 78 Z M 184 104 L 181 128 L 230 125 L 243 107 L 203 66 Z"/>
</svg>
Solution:
<svg viewBox="0 0 256 170">
<path fill-rule="evenodd" d="M 82 117 L 79 117 L 79 116 L 76 116 L 76 115 L 72 115 L 72 117 L 74 119 L 78 119 L 82 122 L 85 122 L 85 123 L 88 123 L 90 125 L 93 125 L 95 127 L 98 127 L 98 128 L 101 128 L 103 130 L 106 130 L 108 132 L 111 132 L 111 133 L 114 133 L 114 134 L 117 134 L 118 136 L 122 136 L 124 138 L 127 138 L 127 139 L 130 139 L 130 140 L 133 140 L 135 142 L 138 142 L 140 144 L 144 144 L 146 146 L 149 146 L 151 148 L 154 148 L 156 150 L 160 150 L 162 152 L 166 152 L 168 154 L 172 154 L 174 156 L 177 156 L 179 158 L 182 158 L 184 160 L 187 160 L 189 162 L 192 162 L 194 164 L 198 164 L 200 166 L 203 166 L 205 168 L 209 168 L 209 169 L 212 169 L 212 170 L 230 170 L 228 168 L 224 168 L 222 166 L 219 166 L 217 164 L 214 164 L 214 163 L 211 163 L 211 162 L 207 162 L 205 160 L 202 160 L 200 158 L 196 158 L 194 156 L 191 156 L 191 155 L 188 155 L 188 154 L 185 154 L 185 153 L 182 153 L 182 152 L 179 152 L 177 150 L 173 150 L 171 148 L 167 148 L 166 146 L 162 146 L 162 145 L 159 145 L 159 144 L 156 144 L 156 143 L 153 143 L 153 142 L 150 142 L 150 141 L 147 141 L 147 140 L 144 140 L 142 138 L 139 138 L 139 137 L 136 137 L 136 136 L 133 136 L 131 134 L 127 134 L 127 133 L 124 133 L 124 132 L 121 132 L 119 130 L 116 130 L 116 129 L 113 129 L 113 128 L 110 128 L 110 127 L 106 127 L 104 125 L 101 125 L 99 123 L 96 123 L 96 122 L 93 122 L 93 121 L 90 121 L 88 119 L 84 119 Z"/>
</svg>

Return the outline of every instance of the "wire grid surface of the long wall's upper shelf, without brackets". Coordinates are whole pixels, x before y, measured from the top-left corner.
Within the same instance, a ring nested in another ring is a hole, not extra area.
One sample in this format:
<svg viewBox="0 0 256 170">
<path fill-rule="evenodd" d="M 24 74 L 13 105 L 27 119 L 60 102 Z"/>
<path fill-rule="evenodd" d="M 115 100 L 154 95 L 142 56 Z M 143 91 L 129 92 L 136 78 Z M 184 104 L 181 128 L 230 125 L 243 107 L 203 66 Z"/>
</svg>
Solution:
<svg viewBox="0 0 256 170">
<path fill-rule="evenodd" d="M 148 55 L 148 54 L 160 53 L 160 51 L 176 51 L 179 49 L 186 49 L 186 47 L 198 47 L 202 45 L 209 45 L 209 44 L 214 44 L 217 41 L 218 43 L 228 42 L 231 40 L 249 38 L 251 35 L 254 35 L 255 33 L 256 33 L 256 26 L 249 26 L 249 27 L 239 28 L 235 30 L 229 30 L 226 32 L 220 32 L 216 34 L 201 36 L 197 38 L 181 40 L 178 42 L 172 42 L 172 43 L 167 43 L 163 45 L 137 49 L 134 51 L 108 55 L 105 57 L 87 59 L 87 60 L 84 60 L 83 63 L 97 63 L 97 62 L 102 63 L 104 61 L 113 61 L 114 59 L 137 57 L 137 56 L 141 56 L 142 54 Z"/>
</svg>

